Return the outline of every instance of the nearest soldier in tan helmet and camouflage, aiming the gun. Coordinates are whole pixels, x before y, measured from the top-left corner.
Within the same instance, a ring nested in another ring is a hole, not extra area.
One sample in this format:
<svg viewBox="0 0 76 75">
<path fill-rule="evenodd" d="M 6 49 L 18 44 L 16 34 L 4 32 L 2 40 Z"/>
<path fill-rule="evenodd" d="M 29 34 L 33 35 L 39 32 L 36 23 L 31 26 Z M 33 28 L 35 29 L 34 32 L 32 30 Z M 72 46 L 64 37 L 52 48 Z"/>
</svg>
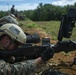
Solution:
<svg viewBox="0 0 76 75">
<path fill-rule="evenodd" d="M 26 35 L 16 24 L 6 23 L 0 26 L 0 50 L 14 50 L 26 42 Z M 0 75 L 32 75 L 36 66 L 49 60 L 54 55 L 54 50 L 48 48 L 40 57 L 34 60 L 9 63 L 0 59 Z M 34 74 L 33 74 L 34 75 Z"/>
</svg>

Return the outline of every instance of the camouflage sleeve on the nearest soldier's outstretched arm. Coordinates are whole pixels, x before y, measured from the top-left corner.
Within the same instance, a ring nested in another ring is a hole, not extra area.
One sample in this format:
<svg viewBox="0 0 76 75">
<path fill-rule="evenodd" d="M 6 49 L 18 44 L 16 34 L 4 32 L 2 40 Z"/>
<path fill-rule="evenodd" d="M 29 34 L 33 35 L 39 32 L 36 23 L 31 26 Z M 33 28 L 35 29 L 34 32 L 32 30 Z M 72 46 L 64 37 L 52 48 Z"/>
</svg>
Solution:
<svg viewBox="0 0 76 75">
<path fill-rule="evenodd" d="M 0 60 L 0 75 L 35 75 L 36 65 L 34 60 L 27 60 L 10 64 Z"/>
</svg>

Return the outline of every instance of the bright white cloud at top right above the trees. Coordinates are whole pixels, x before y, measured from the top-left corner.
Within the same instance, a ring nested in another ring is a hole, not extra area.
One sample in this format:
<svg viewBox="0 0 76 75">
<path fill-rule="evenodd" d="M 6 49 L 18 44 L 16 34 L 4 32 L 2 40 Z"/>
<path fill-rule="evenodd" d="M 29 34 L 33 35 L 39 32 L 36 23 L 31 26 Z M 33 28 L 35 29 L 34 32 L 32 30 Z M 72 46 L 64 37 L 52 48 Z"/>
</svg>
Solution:
<svg viewBox="0 0 76 75">
<path fill-rule="evenodd" d="M 76 2 L 76 0 L 57 0 L 55 2 L 52 2 L 53 5 L 60 5 L 60 6 L 64 6 L 64 5 L 73 5 Z"/>
</svg>

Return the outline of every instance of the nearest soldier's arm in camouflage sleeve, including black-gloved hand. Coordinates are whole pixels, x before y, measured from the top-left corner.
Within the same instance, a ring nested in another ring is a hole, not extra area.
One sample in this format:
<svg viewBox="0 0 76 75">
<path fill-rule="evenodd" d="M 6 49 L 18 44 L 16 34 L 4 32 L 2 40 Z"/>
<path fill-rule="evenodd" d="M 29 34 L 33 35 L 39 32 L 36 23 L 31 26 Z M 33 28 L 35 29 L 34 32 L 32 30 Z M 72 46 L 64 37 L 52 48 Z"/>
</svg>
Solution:
<svg viewBox="0 0 76 75">
<path fill-rule="evenodd" d="M 43 61 L 48 61 L 54 55 L 54 50 L 48 48 L 41 56 L 35 60 L 27 60 L 23 62 L 17 62 L 10 64 L 4 60 L 0 60 L 0 75 L 30 75 L 35 72 L 36 65 Z"/>
</svg>

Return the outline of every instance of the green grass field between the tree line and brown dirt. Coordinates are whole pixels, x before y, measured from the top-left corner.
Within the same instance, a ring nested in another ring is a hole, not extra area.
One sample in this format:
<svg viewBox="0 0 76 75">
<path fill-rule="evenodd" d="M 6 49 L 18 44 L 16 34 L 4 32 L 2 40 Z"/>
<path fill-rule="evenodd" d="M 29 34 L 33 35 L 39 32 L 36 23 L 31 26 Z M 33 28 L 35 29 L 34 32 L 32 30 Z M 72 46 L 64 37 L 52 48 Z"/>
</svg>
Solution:
<svg viewBox="0 0 76 75">
<path fill-rule="evenodd" d="M 47 34 L 53 36 L 53 40 L 57 40 L 58 31 L 60 27 L 60 21 L 31 21 L 26 19 L 25 21 L 19 21 L 24 28 L 42 28 Z M 63 40 L 76 40 L 76 27 L 73 29 L 73 33 L 69 39 L 63 38 Z"/>
</svg>

